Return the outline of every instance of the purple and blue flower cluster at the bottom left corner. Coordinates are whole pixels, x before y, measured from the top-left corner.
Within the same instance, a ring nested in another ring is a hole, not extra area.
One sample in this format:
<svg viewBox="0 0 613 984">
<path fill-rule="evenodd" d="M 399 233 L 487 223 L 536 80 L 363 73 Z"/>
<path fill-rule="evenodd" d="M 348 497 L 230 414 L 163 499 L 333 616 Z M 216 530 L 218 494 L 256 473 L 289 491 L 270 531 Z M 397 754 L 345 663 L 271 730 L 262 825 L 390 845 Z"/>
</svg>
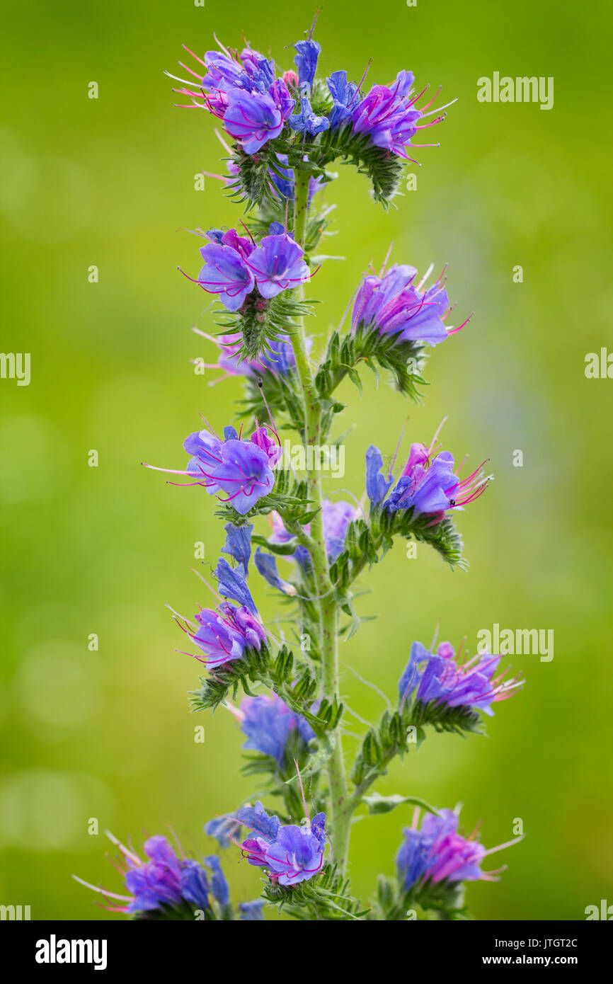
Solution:
<svg viewBox="0 0 613 984">
<path fill-rule="evenodd" d="M 121 852 L 114 867 L 123 876 L 130 894 L 107 892 L 84 882 L 76 875 L 73 876 L 77 882 L 103 895 L 105 899 L 123 903 L 105 905 L 104 908 L 137 917 L 145 913 L 156 913 L 160 918 L 169 919 L 193 919 L 195 910 L 208 912 L 214 918 L 226 918 L 229 915 L 229 889 L 219 859 L 215 855 L 203 858 L 203 866 L 193 858 L 186 857 L 180 845 L 177 853 L 166 837 L 156 835 L 143 845 L 148 859 L 144 861 L 132 847 L 125 847 L 110 833 L 107 835 Z M 206 869 L 212 872 L 211 882 Z M 246 908 L 241 918 L 256 918 L 249 913 L 252 911 L 250 906 L 258 904 L 243 903 Z"/>
</svg>

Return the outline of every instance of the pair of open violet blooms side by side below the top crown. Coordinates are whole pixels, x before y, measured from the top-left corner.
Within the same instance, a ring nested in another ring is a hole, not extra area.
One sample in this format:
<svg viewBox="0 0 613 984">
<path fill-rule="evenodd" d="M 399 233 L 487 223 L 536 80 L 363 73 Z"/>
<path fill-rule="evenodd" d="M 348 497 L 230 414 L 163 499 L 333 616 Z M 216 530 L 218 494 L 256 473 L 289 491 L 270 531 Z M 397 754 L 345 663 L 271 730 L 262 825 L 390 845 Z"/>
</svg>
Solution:
<svg viewBox="0 0 613 984">
<path fill-rule="evenodd" d="M 264 309 L 266 301 L 282 290 L 308 280 L 302 247 L 278 222 L 271 224 L 270 232 L 259 246 L 253 239 L 239 236 L 236 229 L 210 229 L 207 233 L 212 241 L 200 250 L 205 265 L 198 283 L 208 293 L 218 294 L 228 311 L 238 311 L 256 286 L 260 301 L 256 298 L 255 303 Z"/>
</svg>

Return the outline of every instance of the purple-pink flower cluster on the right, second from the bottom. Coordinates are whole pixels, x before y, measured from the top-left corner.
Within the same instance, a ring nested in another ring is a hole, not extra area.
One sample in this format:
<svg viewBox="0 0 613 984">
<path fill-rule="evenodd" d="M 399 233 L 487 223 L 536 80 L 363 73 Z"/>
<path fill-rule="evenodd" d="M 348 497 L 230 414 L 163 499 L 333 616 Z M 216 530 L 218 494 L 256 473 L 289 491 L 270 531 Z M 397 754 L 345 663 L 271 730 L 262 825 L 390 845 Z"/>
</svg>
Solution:
<svg viewBox="0 0 613 984">
<path fill-rule="evenodd" d="M 400 703 L 411 694 L 421 704 L 435 701 L 445 707 L 470 707 L 489 716 L 491 705 L 513 697 L 523 681 L 505 680 L 505 673 L 494 676 L 500 656 L 480 653 L 459 663 L 451 643 L 442 643 L 436 654 L 421 643 L 413 643 L 406 669 L 398 683 Z"/>
</svg>

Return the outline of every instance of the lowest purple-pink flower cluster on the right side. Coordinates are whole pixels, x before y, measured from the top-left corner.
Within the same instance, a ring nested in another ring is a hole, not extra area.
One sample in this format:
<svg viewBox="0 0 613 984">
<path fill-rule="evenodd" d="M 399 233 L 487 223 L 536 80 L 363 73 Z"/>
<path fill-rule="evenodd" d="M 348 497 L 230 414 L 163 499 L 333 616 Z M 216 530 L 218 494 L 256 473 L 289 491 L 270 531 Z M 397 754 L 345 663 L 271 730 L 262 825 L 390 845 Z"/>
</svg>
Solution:
<svg viewBox="0 0 613 984">
<path fill-rule="evenodd" d="M 404 830 L 404 842 L 398 850 L 398 879 L 405 891 L 418 883 L 495 882 L 497 872 L 482 872 L 480 864 L 487 854 L 502 850 L 517 840 L 486 850 L 478 840 L 458 832 L 460 818 L 453 810 L 441 810 L 439 816 L 427 814 L 418 829 L 418 811 L 412 828 Z M 521 839 L 517 838 L 517 839 Z"/>
</svg>

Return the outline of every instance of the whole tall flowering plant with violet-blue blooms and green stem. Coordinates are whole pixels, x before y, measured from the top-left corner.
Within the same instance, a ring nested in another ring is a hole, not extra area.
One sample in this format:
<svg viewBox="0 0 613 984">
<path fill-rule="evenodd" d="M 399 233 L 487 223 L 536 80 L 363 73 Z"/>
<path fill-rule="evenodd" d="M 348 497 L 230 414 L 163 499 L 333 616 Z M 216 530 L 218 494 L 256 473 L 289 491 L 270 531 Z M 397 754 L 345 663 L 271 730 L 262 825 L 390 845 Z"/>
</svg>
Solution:
<svg viewBox="0 0 613 984">
<path fill-rule="evenodd" d="M 258 776 L 264 799 L 276 797 L 280 816 L 259 800 L 220 803 L 205 827 L 222 850 L 238 851 L 262 870 L 262 895 L 239 903 L 236 915 L 217 855 L 188 858 L 178 842 L 175 850 L 159 836 L 145 844 L 147 861 L 112 838 L 127 893 L 96 891 L 143 919 L 260 920 L 266 904 L 298 919 L 399 920 L 407 909 L 463 918 L 463 884 L 494 879 L 497 872 L 481 865 L 499 848 L 486 850 L 474 834 L 464 835 L 457 810 L 369 790 L 396 757 L 417 751 L 429 729 L 479 732 L 481 715 L 492 715 L 522 681 L 498 672 L 497 654 L 466 659 L 450 643 L 434 650 L 414 642 L 401 657 L 403 670 L 398 663 L 398 697 L 361 737 L 348 769 L 338 641 L 359 628 L 356 580 L 398 538 L 428 544 L 451 567 L 465 567 L 455 514 L 491 476 L 482 467 L 460 476 L 463 462 L 457 466 L 441 450 L 437 432 L 427 445 L 412 443 L 403 462 L 399 443 L 391 461 L 369 447 L 361 500 L 333 502 L 323 493 L 321 461 L 306 456 L 301 477 L 284 460 L 278 437 L 283 426 L 318 455 L 331 440 L 337 447 L 331 433 L 344 409 L 337 387 L 348 377 L 359 389 L 362 366 L 389 373 L 400 394 L 419 401 L 427 349 L 466 324 L 447 323 L 443 274 L 430 281 L 431 270 L 419 277 L 404 263 L 388 268 L 386 259 L 378 275 L 361 278 L 348 326 L 341 322 L 331 333 L 319 360 L 306 328 L 313 308 L 307 288 L 329 224 L 321 201 L 335 177 L 329 165 L 357 167 L 387 208 L 403 165 L 424 146 L 414 143 L 419 131 L 441 123 L 444 113 L 430 108 L 438 92 L 428 98 L 428 87 L 419 91 L 408 71 L 366 90 L 364 78 L 350 81 L 344 71 L 318 76 L 312 31 L 294 48 L 294 67 L 280 74 L 247 43 L 204 58 L 189 52 L 191 64 L 180 63 L 190 79 L 178 79 L 176 92 L 220 121 L 228 154 L 221 181 L 245 207 L 233 227 L 195 230 L 206 244 L 194 279 L 219 305 L 219 332 L 206 337 L 224 376 L 243 377 L 238 415 L 253 429 L 228 422 L 219 435 L 205 421 L 184 442 L 187 466 L 161 469 L 204 488 L 224 523 L 224 556 L 210 587 L 215 602 L 193 618 L 174 614 L 205 667 L 192 707 L 221 705 L 234 715 L 248 752 L 245 771 Z M 279 563 L 286 565 L 282 575 Z M 264 625 L 253 568 L 291 605 L 299 646 Z M 402 804 L 415 813 L 398 849 L 397 877 L 381 877 L 373 897 L 360 900 L 347 879 L 353 815 Z"/>
</svg>

